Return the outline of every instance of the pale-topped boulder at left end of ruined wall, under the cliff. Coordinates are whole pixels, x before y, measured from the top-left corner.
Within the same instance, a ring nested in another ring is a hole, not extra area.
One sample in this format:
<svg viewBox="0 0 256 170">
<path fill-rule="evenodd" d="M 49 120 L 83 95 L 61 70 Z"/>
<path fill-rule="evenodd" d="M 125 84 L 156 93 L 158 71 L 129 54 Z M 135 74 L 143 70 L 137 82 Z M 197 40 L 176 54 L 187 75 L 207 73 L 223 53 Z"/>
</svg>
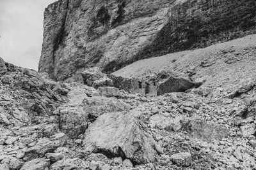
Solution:
<svg viewBox="0 0 256 170">
<path fill-rule="evenodd" d="M 102 73 L 99 67 L 86 69 L 83 71 L 82 76 L 84 84 L 92 86 L 95 89 L 98 89 L 98 87 L 113 86 L 113 81 L 106 74 Z"/>
</svg>

